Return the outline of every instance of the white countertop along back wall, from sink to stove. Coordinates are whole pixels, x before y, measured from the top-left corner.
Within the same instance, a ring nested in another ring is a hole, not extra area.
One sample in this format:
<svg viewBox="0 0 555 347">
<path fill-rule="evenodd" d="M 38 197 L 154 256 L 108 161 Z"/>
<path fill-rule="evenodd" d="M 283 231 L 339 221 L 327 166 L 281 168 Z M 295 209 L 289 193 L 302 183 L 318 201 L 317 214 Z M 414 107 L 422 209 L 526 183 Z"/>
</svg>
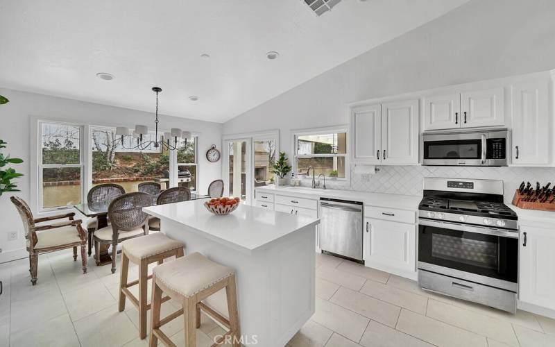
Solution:
<svg viewBox="0 0 555 347">
<path fill-rule="evenodd" d="M 256 187 L 255 189 L 260 192 L 282 195 L 291 194 L 305 198 L 339 198 L 349 201 L 361 201 L 365 205 L 412 211 L 418 210 L 418 204 L 420 200 L 422 200 L 422 196 L 357 192 L 354 190 L 339 189 L 312 189 L 309 187 L 275 187 L 274 185 L 268 185 Z"/>
</svg>

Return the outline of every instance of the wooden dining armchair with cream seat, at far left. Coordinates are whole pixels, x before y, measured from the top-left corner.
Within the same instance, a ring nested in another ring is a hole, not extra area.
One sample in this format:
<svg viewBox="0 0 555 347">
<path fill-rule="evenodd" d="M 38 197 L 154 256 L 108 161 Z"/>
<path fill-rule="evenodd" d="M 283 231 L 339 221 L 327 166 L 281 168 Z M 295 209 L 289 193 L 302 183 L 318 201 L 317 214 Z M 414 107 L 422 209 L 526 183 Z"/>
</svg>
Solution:
<svg viewBox="0 0 555 347">
<path fill-rule="evenodd" d="M 60 251 L 66 248 L 74 248 L 74 261 L 77 260 L 77 247 L 81 247 L 81 265 L 83 273 L 87 273 L 87 233 L 81 227 L 82 221 L 74 219 L 75 213 L 58 214 L 56 216 L 33 218 L 31 208 L 17 196 L 11 196 L 10 200 L 17 208 L 19 216 L 22 217 L 27 239 L 27 251 L 29 252 L 29 272 L 31 272 L 31 283 L 37 284 L 37 268 L 39 253 Z M 58 223 L 41 224 L 57 219 L 68 219 Z M 40 225 L 36 225 L 39 223 Z"/>
</svg>

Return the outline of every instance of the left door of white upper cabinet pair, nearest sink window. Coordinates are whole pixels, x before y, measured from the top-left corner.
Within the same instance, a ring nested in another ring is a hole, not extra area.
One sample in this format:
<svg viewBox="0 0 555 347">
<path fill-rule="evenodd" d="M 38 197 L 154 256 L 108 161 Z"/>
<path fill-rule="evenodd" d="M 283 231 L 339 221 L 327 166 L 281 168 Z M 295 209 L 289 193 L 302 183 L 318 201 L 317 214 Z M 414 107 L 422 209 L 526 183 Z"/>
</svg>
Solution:
<svg viewBox="0 0 555 347">
<path fill-rule="evenodd" d="M 380 105 L 351 109 L 350 129 L 352 160 L 360 164 L 379 164 L 382 146 L 382 110 Z"/>
</svg>

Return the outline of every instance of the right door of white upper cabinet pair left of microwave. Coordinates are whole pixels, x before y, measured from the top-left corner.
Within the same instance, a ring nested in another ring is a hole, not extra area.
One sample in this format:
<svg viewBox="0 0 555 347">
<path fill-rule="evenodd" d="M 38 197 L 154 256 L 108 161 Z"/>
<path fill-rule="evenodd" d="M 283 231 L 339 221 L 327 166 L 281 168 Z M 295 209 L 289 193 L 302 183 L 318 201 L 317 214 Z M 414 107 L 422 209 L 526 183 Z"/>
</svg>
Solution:
<svg viewBox="0 0 555 347">
<path fill-rule="evenodd" d="M 418 99 L 382 104 L 382 164 L 418 164 Z"/>
</svg>

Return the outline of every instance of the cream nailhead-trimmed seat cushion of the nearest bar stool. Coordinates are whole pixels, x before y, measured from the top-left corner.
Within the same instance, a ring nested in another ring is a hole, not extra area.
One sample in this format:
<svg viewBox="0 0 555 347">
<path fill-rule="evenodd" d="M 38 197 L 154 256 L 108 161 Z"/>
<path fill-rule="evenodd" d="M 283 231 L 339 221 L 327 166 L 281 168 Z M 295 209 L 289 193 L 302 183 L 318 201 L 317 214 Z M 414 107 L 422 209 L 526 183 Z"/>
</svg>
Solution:
<svg viewBox="0 0 555 347">
<path fill-rule="evenodd" d="M 233 274 L 233 269 L 200 253 L 155 266 L 153 273 L 169 289 L 189 298 Z"/>
</svg>

